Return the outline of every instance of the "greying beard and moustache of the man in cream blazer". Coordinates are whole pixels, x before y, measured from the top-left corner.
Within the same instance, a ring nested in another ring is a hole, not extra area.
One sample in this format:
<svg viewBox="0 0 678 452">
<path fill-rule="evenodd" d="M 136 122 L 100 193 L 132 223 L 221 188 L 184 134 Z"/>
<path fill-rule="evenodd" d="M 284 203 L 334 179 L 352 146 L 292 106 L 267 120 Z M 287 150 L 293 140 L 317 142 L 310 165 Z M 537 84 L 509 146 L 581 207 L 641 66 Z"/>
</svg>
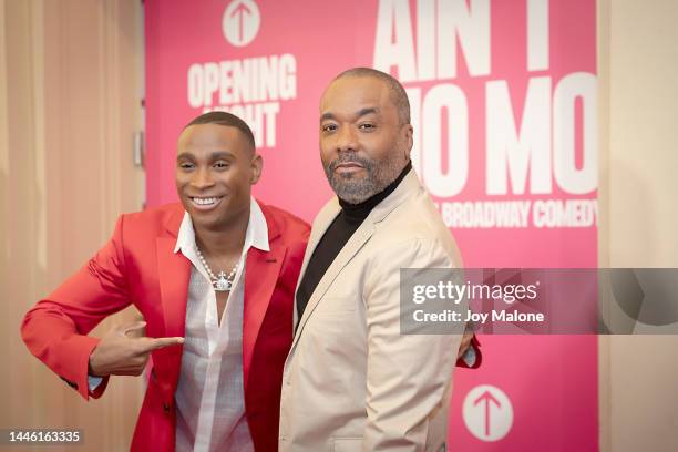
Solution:
<svg viewBox="0 0 678 452">
<path fill-rule="evenodd" d="M 357 163 L 364 168 L 363 174 L 337 174 L 335 170 L 342 163 Z M 404 167 L 398 153 L 388 153 L 384 158 L 362 157 L 355 151 L 342 152 L 337 158 L 322 164 L 330 186 L 339 197 L 349 204 L 360 204 L 388 187 Z"/>
</svg>

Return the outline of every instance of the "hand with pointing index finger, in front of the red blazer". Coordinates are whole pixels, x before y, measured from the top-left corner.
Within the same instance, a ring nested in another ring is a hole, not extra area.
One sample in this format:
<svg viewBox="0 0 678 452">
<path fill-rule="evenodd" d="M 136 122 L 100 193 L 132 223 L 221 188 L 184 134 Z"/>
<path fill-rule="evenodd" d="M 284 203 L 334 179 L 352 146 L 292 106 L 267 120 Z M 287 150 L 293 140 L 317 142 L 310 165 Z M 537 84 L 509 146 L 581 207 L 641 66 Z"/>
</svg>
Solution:
<svg viewBox="0 0 678 452">
<path fill-rule="evenodd" d="M 101 338 L 90 355 L 90 374 L 141 376 L 153 350 L 184 343 L 184 338 L 144 337 L 145 327 L 145 321 L 122 325 Z"/>
</svg>

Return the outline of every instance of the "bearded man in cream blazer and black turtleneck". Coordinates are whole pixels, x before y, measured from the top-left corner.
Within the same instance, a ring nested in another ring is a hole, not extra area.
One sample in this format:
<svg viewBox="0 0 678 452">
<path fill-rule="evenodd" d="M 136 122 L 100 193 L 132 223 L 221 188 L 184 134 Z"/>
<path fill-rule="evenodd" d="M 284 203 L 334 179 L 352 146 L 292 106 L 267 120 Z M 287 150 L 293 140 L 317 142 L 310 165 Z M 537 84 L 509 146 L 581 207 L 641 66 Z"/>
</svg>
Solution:
<svg viewBox="0 0 678 452">
<path fill-rule="evenodd" d="M 462 263 L 411 170 L 407 95 L 390 75 L 358 68 L 332 81 L 320 114 L 338 196 L 316 217 L 304 258 L 279 449 L 442 451 L 462 337 L 400 333 L 400 269 Z"/>
</svg>

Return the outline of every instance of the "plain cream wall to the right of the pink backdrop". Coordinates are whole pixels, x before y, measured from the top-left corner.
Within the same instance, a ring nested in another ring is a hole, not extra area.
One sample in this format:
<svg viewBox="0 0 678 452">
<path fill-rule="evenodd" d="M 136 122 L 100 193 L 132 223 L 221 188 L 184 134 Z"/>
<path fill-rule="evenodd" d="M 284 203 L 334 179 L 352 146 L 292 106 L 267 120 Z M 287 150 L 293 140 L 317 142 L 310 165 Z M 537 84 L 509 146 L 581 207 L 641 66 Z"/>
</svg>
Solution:
<svg viewBox="0 0 678 452">
<path fill-rule="evenodd" d="M 678 267 L 678 1 L 598 7 L 599 264 Z M 602 337 L 599 362 L 600 450 L 678 451 L 678 337 Z"/>
</svg>

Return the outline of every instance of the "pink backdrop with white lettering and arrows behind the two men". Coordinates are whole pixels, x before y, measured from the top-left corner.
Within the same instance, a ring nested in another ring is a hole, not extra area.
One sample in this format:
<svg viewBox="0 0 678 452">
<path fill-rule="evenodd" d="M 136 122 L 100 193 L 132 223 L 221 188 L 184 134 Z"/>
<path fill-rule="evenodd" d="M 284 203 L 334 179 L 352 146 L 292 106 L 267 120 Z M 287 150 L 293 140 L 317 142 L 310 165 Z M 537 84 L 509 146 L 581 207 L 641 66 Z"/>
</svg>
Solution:
<svg viewBox="0 0 678 452">
<path fill-rule="evenodd" d="M 318 101 L 372 66 L 408 90 L 413 162 L 466 267 L 596 267 L 594 0 L 146 0 L 147 205 L 176 201 L 177 135 L 226 110 L 255 131 L 255 195 L 312 220 L 332 195 Z M 593 336 L 481 338 L 452 451 L 598 449 Z"/>
</svg>

